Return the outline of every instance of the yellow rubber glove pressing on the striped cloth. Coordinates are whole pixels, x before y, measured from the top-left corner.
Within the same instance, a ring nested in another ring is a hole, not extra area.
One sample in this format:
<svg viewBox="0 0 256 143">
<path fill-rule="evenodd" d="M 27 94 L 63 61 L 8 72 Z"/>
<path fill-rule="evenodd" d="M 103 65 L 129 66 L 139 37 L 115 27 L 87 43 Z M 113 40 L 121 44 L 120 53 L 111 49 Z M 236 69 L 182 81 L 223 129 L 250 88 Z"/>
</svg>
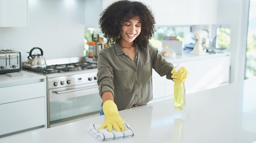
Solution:
<svg viewBox="0 0 256 143">
<path fill-rule="evenodd" d="M 120 115 L 118 114 L 117 105 L 112 100 L 107 100 L 104 102 L 102 108 L 106 116 L 106 120 L 98 130 L 108 127 L 108 131 L 112 132 L 113 127 L 117 132 L 120 132 L 120 128 L 122 131 L 125 131 L 122 123 L 122 121 L 125 121 L 121 119 Z"/>
</svg>

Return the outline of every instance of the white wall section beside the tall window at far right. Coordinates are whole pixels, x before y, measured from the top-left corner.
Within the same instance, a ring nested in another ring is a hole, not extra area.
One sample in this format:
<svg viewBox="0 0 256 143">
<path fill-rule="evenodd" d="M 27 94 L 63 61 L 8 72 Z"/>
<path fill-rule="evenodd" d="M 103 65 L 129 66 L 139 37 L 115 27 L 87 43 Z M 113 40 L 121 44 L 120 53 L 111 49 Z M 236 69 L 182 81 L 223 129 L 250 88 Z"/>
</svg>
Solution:
<svg viewBox="0 0 256 143">
<path fill-rule="evenodd" d="M 249 0 L 218 0 L 218 24 L 230 25 L 230 83 L 244 80 Z"/>
</svg>

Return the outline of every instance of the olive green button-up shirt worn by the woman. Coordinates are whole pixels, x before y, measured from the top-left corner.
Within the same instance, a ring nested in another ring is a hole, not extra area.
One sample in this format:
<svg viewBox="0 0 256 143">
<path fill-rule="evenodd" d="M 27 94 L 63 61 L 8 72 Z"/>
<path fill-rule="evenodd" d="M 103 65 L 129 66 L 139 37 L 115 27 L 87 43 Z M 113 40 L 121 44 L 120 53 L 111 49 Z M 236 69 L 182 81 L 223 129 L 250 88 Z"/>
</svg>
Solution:
<svg viewBox="0 0 256 143">
<path fill-rule="evenodd" d="M 128 109 L 133 104 L 148 103 L 153 99 L 152 68 L 160 76 L 166 75 L 167 79 L 172 80 L 173 64 L 167 62 L 151 45 L 142 50 L 137 48 L 134 61 L 118 43 L 101 50 L 97 73 L 99 95 L 112 92 L 118 110 Z"/>
</svg>

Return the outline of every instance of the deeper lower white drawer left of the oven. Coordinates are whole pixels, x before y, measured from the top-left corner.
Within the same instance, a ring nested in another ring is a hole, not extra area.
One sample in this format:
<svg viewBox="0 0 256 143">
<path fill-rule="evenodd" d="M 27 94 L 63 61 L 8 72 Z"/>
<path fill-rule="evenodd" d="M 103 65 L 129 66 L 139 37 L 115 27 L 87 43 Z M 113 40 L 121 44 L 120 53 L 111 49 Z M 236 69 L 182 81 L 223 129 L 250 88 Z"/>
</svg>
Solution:
<svg viewBox="0 0 256 143">
<path fill-rule="evenodd" d="M 0 105 L 0 135 L 45 125 L 45 97 Z"/>
</svg>

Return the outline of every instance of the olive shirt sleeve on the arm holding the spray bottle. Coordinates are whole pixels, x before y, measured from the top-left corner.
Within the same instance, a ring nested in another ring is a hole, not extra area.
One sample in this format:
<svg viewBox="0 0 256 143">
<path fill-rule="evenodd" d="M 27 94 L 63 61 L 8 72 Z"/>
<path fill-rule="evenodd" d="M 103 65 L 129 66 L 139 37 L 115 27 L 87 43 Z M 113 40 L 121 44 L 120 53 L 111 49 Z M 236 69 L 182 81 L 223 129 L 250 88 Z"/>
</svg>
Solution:
<svg viewBox="0 0 256 143">
<path fill-rule="evenodd" d="M 160 75 L 164 76 L 166 75 L 167 79 L 172 80 L 172 69 L 173 64 L 169 63 L 162 57 L 162 55 L 158 52 L 157 49 L 155 49 L 153 46 L 149 45 L 149 52 L 152 58 L 152 66 L 153 69 Z"/>
</svg>

